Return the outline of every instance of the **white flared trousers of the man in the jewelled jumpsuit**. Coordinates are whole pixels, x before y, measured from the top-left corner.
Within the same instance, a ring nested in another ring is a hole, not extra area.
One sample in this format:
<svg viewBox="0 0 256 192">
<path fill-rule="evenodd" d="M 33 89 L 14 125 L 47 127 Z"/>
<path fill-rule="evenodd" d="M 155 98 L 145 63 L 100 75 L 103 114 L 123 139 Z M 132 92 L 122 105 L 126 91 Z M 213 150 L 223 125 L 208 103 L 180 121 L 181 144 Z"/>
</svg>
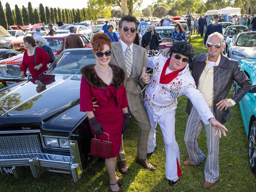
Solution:
<svg viewBox="0 0 256 192">
<path fill-rule="evenodd" d="M 180 150 L 175 140 L 175 109 L 177 108 L 177 104 L 173 107 L 160 109 L 148 105 L 145 101 L 145 108 L 151 124 L 148 136 L 148 153 L 153 152 L 156 147 L 156 126 L 159 124 L 165 143 L 165 177 L 169 180 L 176 181 L 181 176 L 179 164 Z"/>
</svg>

